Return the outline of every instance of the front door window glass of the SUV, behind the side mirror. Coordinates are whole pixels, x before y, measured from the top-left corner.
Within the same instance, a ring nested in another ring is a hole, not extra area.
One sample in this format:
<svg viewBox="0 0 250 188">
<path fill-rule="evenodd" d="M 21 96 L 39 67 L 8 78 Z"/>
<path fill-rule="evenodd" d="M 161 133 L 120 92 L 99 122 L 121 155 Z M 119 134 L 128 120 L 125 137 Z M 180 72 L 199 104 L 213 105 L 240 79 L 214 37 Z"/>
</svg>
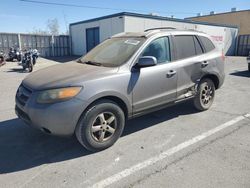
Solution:
<svg viewBox="0 0 250 188">
<path fill-rule="evenodd" d="M 161 37 L 151 42 L 143 51 L 142 56 L 153 56 L 157 63 L 170 61 L 170 46 L 168 37 Z"/>
</svg>

